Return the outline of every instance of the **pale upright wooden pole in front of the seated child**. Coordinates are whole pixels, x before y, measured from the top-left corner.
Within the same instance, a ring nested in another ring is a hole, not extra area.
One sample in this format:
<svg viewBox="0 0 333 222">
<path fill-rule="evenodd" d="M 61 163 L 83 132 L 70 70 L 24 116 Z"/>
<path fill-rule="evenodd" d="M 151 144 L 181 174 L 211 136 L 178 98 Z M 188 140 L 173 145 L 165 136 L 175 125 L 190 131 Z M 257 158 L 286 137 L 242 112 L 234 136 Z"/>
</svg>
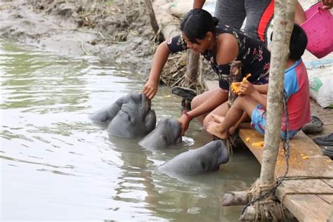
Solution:
<svg viewBox="0 0 333 222">
<path fill-rule="evenodd" d="M 261 162 L 260 186 L 274 184 L 274 171 L 280 145 L 283 79 L 289 55 L 290 27 L 294 24 L 296 0 L 276 0 L 274 10 L 273 49 L 270 55 L 267 124 Z M 291 29 L 292 30 L 292 29 Z"/>
</svg>

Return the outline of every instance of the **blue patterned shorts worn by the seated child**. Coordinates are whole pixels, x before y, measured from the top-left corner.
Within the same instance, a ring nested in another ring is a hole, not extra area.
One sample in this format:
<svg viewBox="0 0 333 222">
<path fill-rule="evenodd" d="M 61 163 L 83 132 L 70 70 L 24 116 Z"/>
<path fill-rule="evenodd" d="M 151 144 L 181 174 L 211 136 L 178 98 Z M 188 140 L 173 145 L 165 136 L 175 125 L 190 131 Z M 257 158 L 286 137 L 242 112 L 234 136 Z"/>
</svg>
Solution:
<svg viewBox="0 0 333 222">
<path fill-rule="evenodd" d="M 256 105 L 252 111 L 251 117 L 251 127 L 259 131 L 262 135 L 265 135 L 265 126 L 266 126 L 266 110 L 263 109 L 261 105 Z M 289 131 L 289 139 L 296 135 L 299 130 Z M 285 139 L 285 131 L 281 129 L 281 139 Z"/>
</svg>

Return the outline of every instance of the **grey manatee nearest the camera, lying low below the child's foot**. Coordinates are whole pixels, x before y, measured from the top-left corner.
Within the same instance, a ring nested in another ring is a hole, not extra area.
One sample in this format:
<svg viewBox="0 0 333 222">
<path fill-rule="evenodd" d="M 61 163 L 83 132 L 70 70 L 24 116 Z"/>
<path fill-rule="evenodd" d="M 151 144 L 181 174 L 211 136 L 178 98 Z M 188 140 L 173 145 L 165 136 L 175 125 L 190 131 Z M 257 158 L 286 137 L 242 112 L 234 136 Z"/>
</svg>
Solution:
<svg viewBox="0 0 333 222">
<path fill-rule="evenodd" d="M 211 141 L 201 148 L 188 150 L 159 166 L 158 169 L 171 174 L 200 174 L 215 171 L 229 160 L 223 141 Z"/>
</svg>

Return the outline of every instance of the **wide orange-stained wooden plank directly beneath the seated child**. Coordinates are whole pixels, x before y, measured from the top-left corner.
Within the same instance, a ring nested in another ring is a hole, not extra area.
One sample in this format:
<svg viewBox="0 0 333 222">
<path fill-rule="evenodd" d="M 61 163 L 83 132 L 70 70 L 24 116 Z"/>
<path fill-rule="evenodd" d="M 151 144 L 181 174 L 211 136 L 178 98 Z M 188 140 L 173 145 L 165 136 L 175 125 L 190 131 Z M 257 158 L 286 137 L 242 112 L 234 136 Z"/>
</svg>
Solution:
<svg viewBox="0 0 333 222">
<path fill-rule="evenodd" d="M 240 138 L 261 163 L 263 148 L 253 146 L 253 143 L 263 141 L 263 136 L 254 129 L 240 129 Z M 249 141 L 247 141 L 247 138 L 249 138 Z M 304 157 L 308 157 L 308 159 L 304 159 Z M 285 174 L 285 166 L 285 155 L 281 143 L 275 167 L 276 177 Z M 289 172 L 287 176 L 333 177 L 333 162 L 329 157 L 322 155 L 318 145 L 300 131 L 290 141 Z"/>
</svg>

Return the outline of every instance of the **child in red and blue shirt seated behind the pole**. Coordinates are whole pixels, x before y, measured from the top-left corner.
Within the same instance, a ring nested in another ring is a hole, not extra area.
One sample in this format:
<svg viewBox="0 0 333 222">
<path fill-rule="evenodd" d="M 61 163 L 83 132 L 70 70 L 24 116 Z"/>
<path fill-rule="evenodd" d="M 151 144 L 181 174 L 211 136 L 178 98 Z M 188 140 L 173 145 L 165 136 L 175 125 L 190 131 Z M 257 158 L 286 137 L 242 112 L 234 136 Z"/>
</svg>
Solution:
<svg viewBox="0 0 333 222">
<path fill-rule="evenodd" d="M 309 84 L 306 67 L 301 60 L 308 39 L 306 33 L 294 24 L 289 44 L 289 58 L 285 70 L 284 94 L 289 113 L 289 138 L 292 138 L 304 124 L 310 122 Z M 240 96 L 228 110 L 225 117 L 213 114 L 216 122 L 209 122 L 207 131 L 218 138 L 226 139 L 230 128 L 237 127 L 243 112 L 252 119 L 252 128 L 265 133 L 267 97 L 257 91 L 251 83 L 240 84 Z M 236 124 L 236 125 L 235 125 Z M 281 138 L 285 138 L 286 117 L 282 113 Z"/>
</svg>

